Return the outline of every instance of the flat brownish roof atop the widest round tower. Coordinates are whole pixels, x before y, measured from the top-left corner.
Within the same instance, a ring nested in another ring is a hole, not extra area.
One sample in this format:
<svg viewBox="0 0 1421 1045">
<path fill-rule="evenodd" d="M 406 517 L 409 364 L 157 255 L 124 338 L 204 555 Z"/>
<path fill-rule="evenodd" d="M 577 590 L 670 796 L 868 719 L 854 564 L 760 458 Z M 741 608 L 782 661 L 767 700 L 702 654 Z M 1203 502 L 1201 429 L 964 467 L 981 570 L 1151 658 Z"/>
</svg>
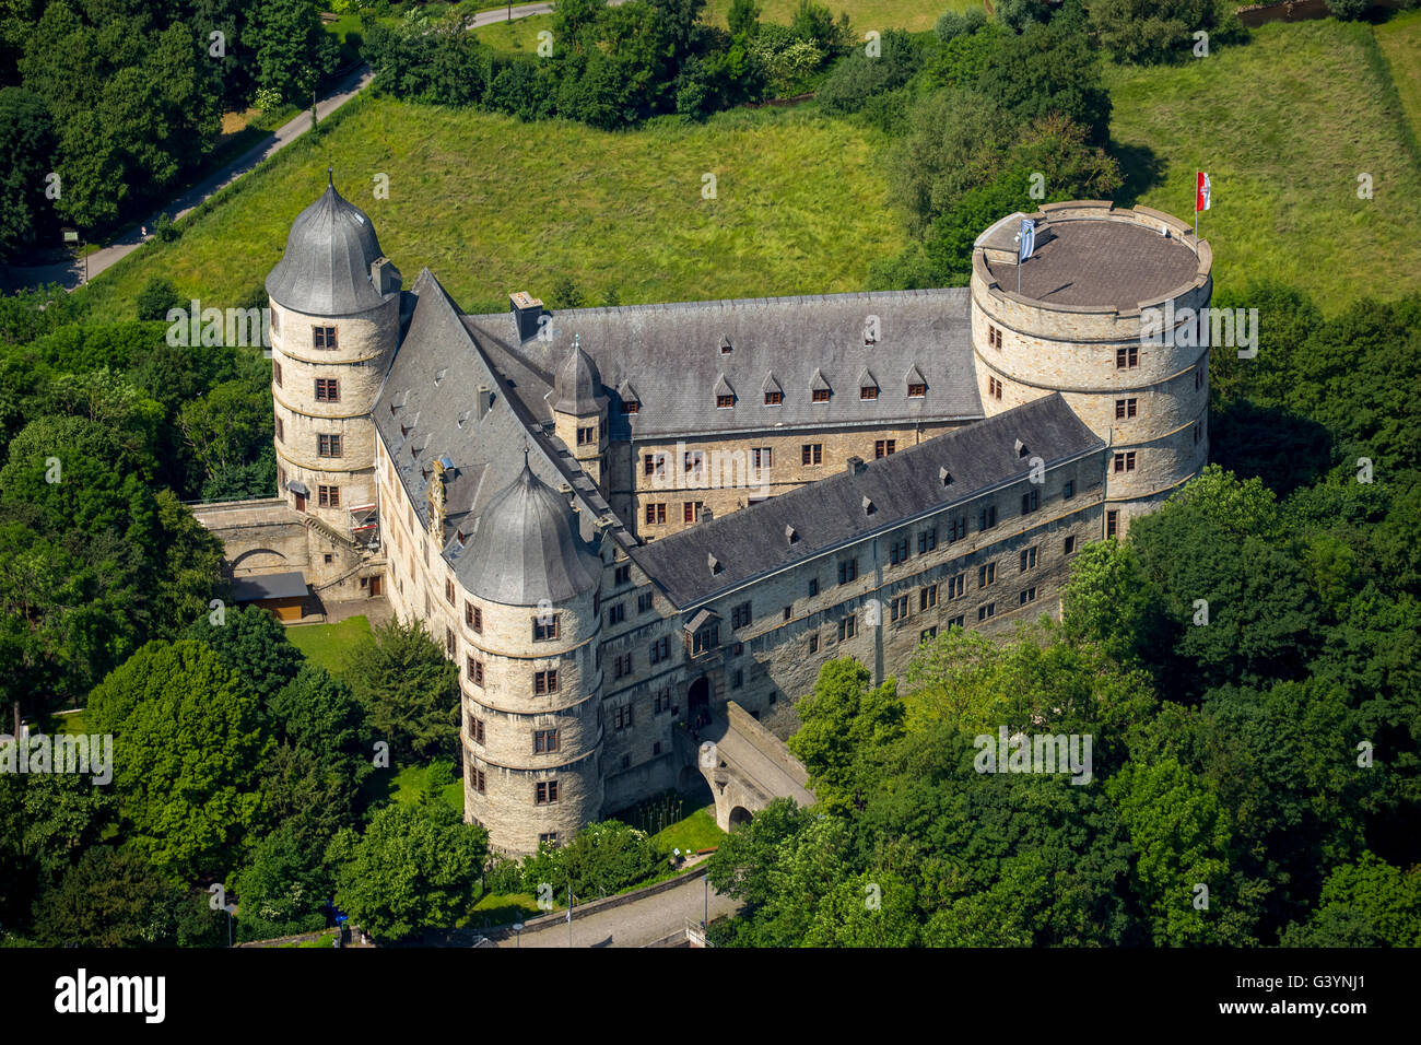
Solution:
<svg viewBox="0 0 1421 1045">
<path fill-rule="evenodd" d="M 1046 304 L 1133 309 L 1192 283 L 1199 267 L 1187 243 L 1131 220 L 1047 222 L 1037 225 L 1036 242 L 1022 266 L 1022 297 Z M 1015 264 L 986 266 L 1003 290 L 1016 290 Z"/>
</svg>

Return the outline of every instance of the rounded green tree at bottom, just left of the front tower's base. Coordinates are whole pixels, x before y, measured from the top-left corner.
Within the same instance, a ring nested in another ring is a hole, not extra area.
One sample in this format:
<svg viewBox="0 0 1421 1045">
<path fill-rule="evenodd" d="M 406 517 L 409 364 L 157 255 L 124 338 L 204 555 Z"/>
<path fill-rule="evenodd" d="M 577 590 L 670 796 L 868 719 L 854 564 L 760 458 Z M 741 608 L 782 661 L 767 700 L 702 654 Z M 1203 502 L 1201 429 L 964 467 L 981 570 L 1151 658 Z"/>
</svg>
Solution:
<svg viewBox="0 0 1421 1045">
<path fill-rule="evenodd" d="M 381 808 L 364 837 L 331 843 L 335 904 L 377 940 L 453 928 L 476 896 L 487 832 L 443 805 Z"/>
</svg>

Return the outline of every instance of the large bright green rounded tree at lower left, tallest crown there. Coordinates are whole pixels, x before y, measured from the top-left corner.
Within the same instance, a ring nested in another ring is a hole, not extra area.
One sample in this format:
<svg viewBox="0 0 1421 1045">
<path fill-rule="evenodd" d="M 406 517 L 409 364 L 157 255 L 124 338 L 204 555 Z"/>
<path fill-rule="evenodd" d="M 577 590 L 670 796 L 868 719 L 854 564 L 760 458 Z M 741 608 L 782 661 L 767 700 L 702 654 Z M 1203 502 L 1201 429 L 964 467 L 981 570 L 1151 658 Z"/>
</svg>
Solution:
<svg viewBox="0 0 1421 1045">
<path fill-rule="evenodd" d="M 88 727 L 114 734 L 114 789 L 139 854 L 186 880 L 240 864 L 263 825 L 271 742 L 256 694 L 212 648 L 148 643 L 94 688 Z"/>
</svg>

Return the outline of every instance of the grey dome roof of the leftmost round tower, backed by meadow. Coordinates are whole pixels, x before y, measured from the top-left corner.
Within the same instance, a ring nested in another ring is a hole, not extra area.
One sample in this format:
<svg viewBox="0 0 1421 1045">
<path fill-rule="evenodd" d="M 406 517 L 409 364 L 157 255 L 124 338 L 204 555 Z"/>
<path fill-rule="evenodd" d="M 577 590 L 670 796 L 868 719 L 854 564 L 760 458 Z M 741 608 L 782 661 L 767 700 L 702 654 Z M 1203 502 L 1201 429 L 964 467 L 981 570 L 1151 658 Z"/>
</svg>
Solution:
<svg viewBox="0 0 1421 1045">
<path fill-rule="evenodd" d="M 369 279 L 369 263 L 382 256 L 365 212 L 327 185 L 291 222 L 281 260 L 267 276 L 267 294 L 307 316 L 367 311 L 384 301 Z"/>
</svg>

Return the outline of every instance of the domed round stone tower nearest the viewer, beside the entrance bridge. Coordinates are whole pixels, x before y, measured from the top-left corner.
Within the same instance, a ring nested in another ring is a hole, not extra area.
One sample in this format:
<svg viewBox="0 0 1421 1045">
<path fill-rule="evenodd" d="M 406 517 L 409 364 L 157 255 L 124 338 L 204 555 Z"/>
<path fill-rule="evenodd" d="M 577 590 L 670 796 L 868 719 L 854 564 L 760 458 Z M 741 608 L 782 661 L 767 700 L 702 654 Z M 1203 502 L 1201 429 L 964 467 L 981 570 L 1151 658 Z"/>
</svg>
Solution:
<svg viewBox="0 0 1421 1045">
<path fill-rule="evenodd" d="M 601 567 L 526 462 L 462 556 L 465 815 L 502 852 L 566 843 L 601 815 Z"/>
</svg>

